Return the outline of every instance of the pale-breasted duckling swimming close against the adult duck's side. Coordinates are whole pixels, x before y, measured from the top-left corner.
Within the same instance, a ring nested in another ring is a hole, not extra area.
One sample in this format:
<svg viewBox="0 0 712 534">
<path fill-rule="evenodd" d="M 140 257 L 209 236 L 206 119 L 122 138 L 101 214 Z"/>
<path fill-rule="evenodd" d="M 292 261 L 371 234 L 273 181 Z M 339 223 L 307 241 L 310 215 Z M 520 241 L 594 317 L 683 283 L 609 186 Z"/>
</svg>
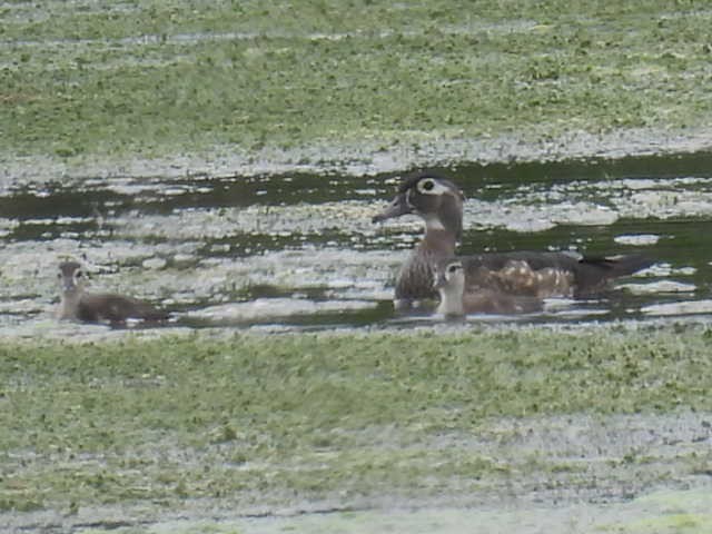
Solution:
<svg viewBox="0 0 712 534">
<path fill-rule="evenodd" d="M 524 314 L 542 309 L 542 300 L 536 297 L 515 296 L 487 285 L 465 287 L 465 269 L 458 258 L 438 261 L 434 287 L 441 297 L 436 313 L 445 317 L 461 317 L 467 314 Z"/>
</svg>

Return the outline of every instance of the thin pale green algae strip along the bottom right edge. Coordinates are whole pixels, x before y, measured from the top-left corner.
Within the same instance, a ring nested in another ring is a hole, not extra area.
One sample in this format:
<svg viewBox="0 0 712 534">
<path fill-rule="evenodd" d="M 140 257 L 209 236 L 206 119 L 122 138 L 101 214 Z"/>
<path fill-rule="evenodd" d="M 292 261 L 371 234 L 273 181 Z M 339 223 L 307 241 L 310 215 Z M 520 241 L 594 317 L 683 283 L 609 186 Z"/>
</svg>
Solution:
<svg viewBox="0 0 712 534">
<path fill-rule="evenodd" d="M 693 534 L 712 532 L 712 491 L 656 492 L 629 503 L 517 506 L 508 510 L 425 508 L 343 512 L 235 522 L 175 521 L 138 532 L 150 534 Z M 82 534 L 106 532 L 89 528 Z M 128 534 L 128 530 L 118 530 Z"/>
</svg>

